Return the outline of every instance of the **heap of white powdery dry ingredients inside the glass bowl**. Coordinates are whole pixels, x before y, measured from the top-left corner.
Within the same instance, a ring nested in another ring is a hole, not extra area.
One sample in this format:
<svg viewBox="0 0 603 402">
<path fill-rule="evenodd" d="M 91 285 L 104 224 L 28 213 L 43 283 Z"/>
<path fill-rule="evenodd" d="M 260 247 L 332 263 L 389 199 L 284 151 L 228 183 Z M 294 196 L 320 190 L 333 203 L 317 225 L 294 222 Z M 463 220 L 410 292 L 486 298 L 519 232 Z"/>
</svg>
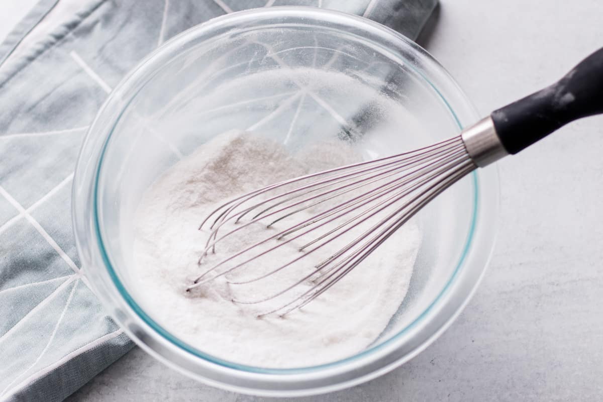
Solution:
<svg viewBox="0 0 603 402">
<path fill-rule="evenodd" d="M 217 205 L 275 181 L 357 159 L 342 142 L 291 155 L 277 143 L 230 132 L 174 165 L 147 190 L 137 211 L 134 277 L 142 306 L 178 338 L 237 363 L 292 368 L 332 362 L 363 350 L 384 330 L 408 290 L 420 242 L 412 221 L 343 280 L 284 318 L 257 318 L 257 314 L 279 307 L 286 295 L 260 304 L 237 304 L 232 299 L 255 300 L 283 290 L 313 269 L 312 263 L 293 265 L 252 284 L 229 284 L 226 278 L 240 280 L 268 272 L 299 254 L 294 245 L 279 248 L 269 260 L 258 260 L 185 292 L 186 285 L 212 262 L 241 250 L 250 239 L 267 236 L 265 225 L 252 225 L 241 236 L 219 243 L 216 255 L 199 266 L 207 231 L 199 231 L 198 225 Z M 338 250 L 338 245 L 317 252 L 315 258 Z M 303 291 L 312 283 L 301 286 Z"/>
</svg>

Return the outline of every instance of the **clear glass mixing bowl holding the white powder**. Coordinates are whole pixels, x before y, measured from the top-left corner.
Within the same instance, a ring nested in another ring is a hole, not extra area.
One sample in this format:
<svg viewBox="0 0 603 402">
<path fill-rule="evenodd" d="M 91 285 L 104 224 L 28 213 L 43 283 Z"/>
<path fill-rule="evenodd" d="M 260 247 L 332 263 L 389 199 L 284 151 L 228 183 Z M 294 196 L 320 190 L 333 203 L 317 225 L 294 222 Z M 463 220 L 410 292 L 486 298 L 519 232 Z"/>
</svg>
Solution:
<svg viewBox="0 0 603 402">
<path fill-rule="evenodd" d="M 437 61 L 370 20 L 301 7 L 210 20 L 142 61 L 90 127 L 73 202 L 84 272 L 140 347 L 203 382 L 256 395 L 318 394 L 364 382 L 423 350 L 469 300 L 493 247 L 495 169 L 469 175 L 420 212 L 423 239 L 409 291 L 377 341 L 343 360 L 292 369 L 219 359 L 154 320 L 129 269 L 137 203 L 169 166 L 233 128 L 291 152 L 355 136 L 362 155 L 374 158 L 454 136 L 477 119 Z"/>
</svg>

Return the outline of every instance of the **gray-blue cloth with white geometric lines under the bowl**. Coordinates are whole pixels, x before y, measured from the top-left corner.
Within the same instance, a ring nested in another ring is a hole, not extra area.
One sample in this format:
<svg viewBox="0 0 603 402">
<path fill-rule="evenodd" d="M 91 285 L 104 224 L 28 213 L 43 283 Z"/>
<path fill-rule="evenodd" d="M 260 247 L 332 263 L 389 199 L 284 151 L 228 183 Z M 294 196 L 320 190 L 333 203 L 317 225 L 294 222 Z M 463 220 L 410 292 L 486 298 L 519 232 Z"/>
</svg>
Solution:
<svg viewBox="0 0 603 402">
<path fill-rule="evenodd" d="M 42 0 L 0 45 L 0 401 L 60 401 L 133 346 L 82 276 L 71 230 L 81 140 L 124 74 L 165 40 L 242 8 L 310 5 L 414 39 L 437 0 L 86 0 L 18 60 Z"/>
</svg>

